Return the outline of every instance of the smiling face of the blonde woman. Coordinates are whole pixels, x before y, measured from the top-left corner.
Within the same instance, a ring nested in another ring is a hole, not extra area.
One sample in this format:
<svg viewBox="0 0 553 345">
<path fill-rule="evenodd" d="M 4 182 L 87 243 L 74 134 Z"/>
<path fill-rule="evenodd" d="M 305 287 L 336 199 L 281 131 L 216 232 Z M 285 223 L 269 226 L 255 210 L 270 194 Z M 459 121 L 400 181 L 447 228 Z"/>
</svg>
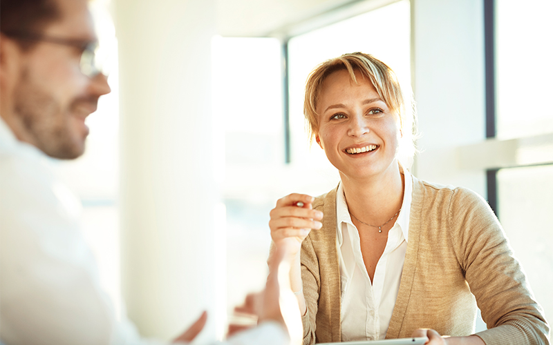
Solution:
<svg viewBox="0 0 553 345">
<path fill-rule="evenodd" d="M 315 139 L 341 175 L 374 177 L 397 169 L 398 116 L 379 97 L 370 80 L 346 70 L 332 72 L 321 88 Z"/>
</svg>

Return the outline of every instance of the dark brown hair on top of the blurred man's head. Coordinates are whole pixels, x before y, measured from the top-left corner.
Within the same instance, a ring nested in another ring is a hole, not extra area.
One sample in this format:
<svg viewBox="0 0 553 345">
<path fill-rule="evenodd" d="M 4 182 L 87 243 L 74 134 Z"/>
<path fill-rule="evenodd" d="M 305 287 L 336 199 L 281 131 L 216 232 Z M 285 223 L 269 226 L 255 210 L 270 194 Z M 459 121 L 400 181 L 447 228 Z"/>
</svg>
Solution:
<svg viewBox="0 0 553 345">
<path fill-rule="evenodd" d="M 56 0 L 1 0 L 0 31 L 6 36 L 17 34 L 40 34 L 48 24 L 61 17 Z M 35 42 L 21 40 L 22 48 L 28 49 Z"/>
</svg>

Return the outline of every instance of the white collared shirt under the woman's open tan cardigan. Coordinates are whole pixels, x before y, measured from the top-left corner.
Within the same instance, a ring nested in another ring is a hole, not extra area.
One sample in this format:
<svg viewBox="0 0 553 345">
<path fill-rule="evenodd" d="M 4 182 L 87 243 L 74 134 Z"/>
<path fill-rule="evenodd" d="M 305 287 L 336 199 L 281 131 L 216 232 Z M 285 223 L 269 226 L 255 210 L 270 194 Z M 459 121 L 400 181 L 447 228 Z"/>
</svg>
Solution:
<svg viewBox="0 0 553 345">
<path fill-rule="evenodd" d="M 384 339 L 400 290 L 407 239 L 413 180 L 404 169 L 405 189 L 400 215 L 388 231 L 384 253 L 376 266 L 373 284 L 361 253 L 357 228 L 351 221 L 344 188 L 336 194 L 337 250 L 341 279 L 341 341 Z"/>
</svg>

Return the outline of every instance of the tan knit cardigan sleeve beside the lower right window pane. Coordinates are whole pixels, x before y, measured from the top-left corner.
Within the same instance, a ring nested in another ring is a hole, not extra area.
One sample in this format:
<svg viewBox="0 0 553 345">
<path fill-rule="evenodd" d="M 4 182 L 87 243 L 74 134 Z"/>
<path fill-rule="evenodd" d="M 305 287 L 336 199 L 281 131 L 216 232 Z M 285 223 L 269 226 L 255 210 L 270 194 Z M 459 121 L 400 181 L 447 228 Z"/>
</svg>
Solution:
<svg viewBox="0 0 553 345">
<path fill-rule="evenodd" d="M 453 247 L 487 324 L 487 345 L 549 344 L 550 328 L 487 202 L 466 188 L 451 196 Z"/>
</svg>

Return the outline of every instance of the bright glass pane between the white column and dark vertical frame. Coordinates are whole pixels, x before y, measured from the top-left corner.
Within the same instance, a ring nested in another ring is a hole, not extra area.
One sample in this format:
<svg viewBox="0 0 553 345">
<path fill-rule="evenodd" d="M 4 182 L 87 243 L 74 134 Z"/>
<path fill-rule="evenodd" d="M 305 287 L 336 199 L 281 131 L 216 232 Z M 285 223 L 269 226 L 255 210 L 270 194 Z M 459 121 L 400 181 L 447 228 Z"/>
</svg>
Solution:
<svg viewBox="0 0 553 345">
<path fill-rule="evenodd" d="M 273 38 L 216 37 L 213 106 L 226 164 L 280 164 L 283 157 L 281 44 Z M 259 177 L 263 179 L 263 177 Z"/>
</svg>

